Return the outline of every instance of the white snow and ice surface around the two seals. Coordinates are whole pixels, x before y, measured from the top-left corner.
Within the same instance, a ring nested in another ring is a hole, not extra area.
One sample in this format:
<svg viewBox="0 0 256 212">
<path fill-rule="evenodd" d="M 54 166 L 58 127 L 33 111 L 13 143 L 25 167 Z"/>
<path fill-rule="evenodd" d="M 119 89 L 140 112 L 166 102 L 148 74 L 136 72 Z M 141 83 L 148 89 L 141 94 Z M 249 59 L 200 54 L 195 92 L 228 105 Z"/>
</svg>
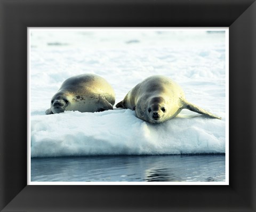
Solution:
<svg viewBox="0 0 256 212">
<path fill-rule="evenodd" d="M 226 51 L 223 31 L 30 29 L 31 157 L 224 153 Z M 149 124 L 130 109 L 45 115 L 51 97 L 73 75 L 94 73 L 116 92 L 162 74 L 186 98 L 222 117 L 183 109 Z"/>
</svg>

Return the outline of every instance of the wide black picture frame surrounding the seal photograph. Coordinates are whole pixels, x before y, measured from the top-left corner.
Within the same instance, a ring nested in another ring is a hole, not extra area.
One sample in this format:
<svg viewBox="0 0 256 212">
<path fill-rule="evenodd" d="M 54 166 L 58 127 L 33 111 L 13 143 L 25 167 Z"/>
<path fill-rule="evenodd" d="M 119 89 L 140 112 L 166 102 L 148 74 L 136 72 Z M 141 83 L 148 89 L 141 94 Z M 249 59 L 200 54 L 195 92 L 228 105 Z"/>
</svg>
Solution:
<svg viewBox="0 0 256 212">
<path fill-rule="evenodd" d="M 255 211 L 255 0 L 0 0 L 1 211 Z M 229 27 L 229 185 L 27 185 L 27 27 Z"/>
</svg>

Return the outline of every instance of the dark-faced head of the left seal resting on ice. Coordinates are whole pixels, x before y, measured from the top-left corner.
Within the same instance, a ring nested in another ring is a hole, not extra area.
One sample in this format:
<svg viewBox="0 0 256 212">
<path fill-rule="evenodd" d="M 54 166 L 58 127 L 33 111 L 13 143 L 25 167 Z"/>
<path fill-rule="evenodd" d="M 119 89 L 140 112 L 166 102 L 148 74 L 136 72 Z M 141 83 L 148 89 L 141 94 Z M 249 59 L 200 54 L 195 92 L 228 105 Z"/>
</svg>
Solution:
<svg viewBox="0 0 256 212">
<path fill-rule="evenodd" d="M 61 94 L 54 95 L 51 100 L 51 110 L 54 114 L 62 113 L 65 111 L 68 104 L 69 101 L 65 96 Z"/>
</svg>

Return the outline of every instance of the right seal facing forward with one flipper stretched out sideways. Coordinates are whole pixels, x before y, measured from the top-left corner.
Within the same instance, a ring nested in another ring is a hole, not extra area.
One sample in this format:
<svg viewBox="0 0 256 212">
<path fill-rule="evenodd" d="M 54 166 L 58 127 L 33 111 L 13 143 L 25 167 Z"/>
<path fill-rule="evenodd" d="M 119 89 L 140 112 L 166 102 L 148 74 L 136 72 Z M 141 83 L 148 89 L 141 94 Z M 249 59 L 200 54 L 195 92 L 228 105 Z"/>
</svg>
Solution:
<svg viewBox="0 0 256 212">
<path fill-rule="evenodd" d="M 181 87 L 162 75 L 148 77 L 137 84 L 116 107 L 133 109 L 138 118 L 149 123 L 165 122 L 177 116 L 182 109 L 221 119 L 189 103 Z"/>
</svg>

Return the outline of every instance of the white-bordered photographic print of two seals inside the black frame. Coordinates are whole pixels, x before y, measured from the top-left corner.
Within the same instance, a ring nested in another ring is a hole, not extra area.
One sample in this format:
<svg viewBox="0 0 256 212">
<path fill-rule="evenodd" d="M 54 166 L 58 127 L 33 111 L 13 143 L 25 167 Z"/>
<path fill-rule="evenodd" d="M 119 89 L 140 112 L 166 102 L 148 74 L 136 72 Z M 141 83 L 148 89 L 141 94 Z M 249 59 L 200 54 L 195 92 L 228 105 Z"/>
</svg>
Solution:
<svg viewBox="0 0 256 212">
<path fill-rule="evenodd" d="M 28 184 L 228 184 L 228 28 L 28 28 Z"/>
</svg>

